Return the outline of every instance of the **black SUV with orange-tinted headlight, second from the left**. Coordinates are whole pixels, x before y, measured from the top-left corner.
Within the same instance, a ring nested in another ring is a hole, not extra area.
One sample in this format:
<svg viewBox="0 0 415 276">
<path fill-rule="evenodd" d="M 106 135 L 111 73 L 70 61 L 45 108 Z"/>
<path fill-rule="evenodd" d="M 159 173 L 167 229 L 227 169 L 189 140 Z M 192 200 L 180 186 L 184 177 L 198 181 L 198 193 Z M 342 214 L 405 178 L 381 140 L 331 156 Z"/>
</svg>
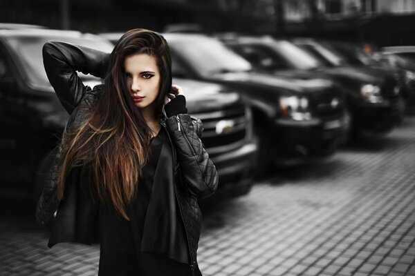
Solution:
<svg viewBox="0 0 415 276">
<path fill-rule="evenodd" d="M 344 99 L 332 81 L 252 72 L 246 59 L 218 39 L 163 35 L 172 51 L 174 76 L 226 84 L 246 97 L 259 136 L 260 173 L 269 161 L 290 165 L 329 156 L 344 139 Z"/>
</svg>

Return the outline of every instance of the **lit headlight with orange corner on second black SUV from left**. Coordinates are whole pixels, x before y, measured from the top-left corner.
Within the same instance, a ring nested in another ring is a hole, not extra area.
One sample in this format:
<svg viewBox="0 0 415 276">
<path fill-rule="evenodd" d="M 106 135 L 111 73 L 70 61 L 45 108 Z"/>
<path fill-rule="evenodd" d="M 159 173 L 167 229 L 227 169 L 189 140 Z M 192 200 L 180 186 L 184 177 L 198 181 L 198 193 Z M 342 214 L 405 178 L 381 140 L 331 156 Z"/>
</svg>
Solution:
<svg viewBox="0 0 415 276">
<path fill-rule="evenodd" d="M 306 97 L 280 97 L 279 107 L 283 117 L 291 117 L 297 121 L 311 119 L 311 113 L 308 111 L 308 99 Z"/>
</svg>

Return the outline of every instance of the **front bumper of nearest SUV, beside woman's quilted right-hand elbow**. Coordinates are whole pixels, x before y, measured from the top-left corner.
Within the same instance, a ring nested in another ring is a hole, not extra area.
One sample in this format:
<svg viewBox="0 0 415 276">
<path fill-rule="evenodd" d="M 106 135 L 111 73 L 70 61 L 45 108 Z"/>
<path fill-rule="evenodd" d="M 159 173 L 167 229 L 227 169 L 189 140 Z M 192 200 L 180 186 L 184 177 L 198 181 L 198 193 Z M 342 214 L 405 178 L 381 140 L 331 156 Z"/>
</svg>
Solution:
<svg viewBox="0 0 415 276">
<path fill-rule="evenodd" d="M 252 141 L 234 150 L 210 156 L 219 174 L 215 199 L 248 193 L 252 186 L 256 153 L 257 143 Z"/>
</svg>

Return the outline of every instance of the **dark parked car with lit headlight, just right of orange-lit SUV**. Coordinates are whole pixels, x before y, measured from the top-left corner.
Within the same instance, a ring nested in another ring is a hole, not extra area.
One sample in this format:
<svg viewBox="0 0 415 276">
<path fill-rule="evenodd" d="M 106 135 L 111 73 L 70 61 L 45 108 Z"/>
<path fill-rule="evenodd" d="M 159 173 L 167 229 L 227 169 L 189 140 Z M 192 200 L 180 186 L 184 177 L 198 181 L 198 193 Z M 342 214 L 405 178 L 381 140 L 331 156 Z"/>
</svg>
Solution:
<svg viewBox="0 0 415 276">
<path fill-rule="evenodd" d="M 398 77 L 382 68 L 356 64 L 329 43 L 315 39 L 294 39 L 295 45 L 313 55 L 325 67 L 316 69 L 333 77 L 347 91 L 355 134 L 383 135 L 403 119 L 403 99 Z"/>
</svg>

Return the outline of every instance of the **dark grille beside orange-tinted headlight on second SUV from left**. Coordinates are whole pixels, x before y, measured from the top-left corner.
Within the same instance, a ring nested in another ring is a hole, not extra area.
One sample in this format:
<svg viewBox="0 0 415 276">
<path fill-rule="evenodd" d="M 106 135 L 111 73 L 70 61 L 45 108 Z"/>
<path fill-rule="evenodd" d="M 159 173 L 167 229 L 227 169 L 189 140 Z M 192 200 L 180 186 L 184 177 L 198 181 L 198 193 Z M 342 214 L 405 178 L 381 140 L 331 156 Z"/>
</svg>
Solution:
<svg viewBox="0 0 415 276">
<path fill-rule="evenodd" d="M 344 99 L 340 92 L 323 90 L 311 95 L 311 110 L 315 117 L 331 117 L 341 115 L 344 108 Z"/>
</svg>

